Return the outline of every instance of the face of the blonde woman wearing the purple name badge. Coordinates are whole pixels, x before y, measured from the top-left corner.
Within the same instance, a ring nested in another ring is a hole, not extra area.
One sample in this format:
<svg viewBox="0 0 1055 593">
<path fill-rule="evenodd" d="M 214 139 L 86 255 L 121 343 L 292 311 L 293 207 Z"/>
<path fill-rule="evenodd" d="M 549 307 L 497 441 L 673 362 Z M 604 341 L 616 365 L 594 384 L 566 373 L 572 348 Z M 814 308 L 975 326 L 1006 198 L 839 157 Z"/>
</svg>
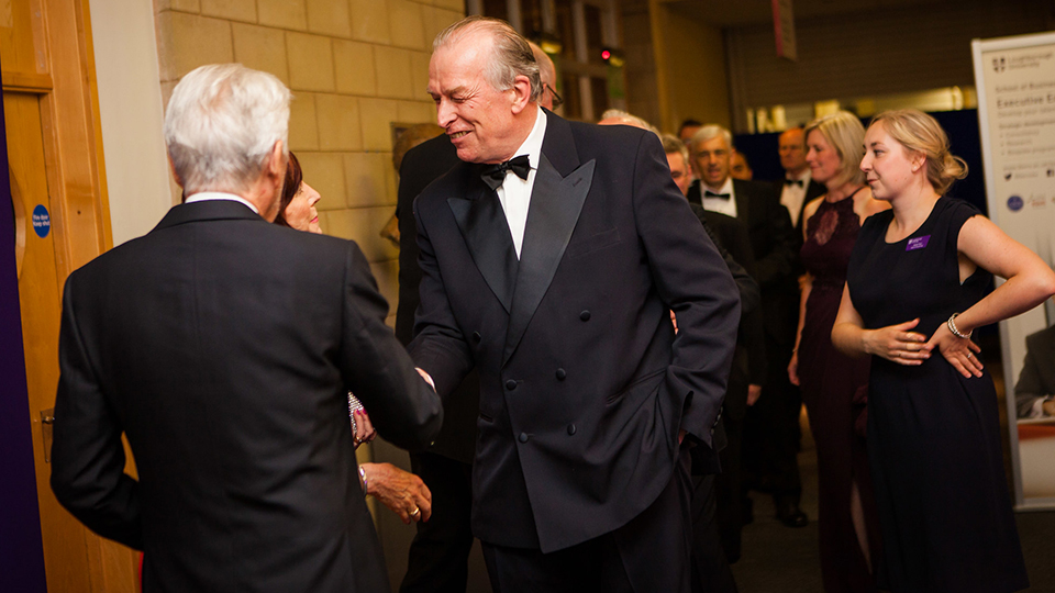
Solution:
<svg viewBox="0 0 1055 593">
<path fill-rule="evenodd" d="M 860 170 L 877 200 L 896 199 L 919 184 L 920 175 L 923 176 L 922 182 L 926 182 L 923 165 L 923 156 L 906 150 L 901 143 L 887 134 L 882 122 L 873 124 L 865 132 L 865 157 L 860 159 Z"/>
</svg>

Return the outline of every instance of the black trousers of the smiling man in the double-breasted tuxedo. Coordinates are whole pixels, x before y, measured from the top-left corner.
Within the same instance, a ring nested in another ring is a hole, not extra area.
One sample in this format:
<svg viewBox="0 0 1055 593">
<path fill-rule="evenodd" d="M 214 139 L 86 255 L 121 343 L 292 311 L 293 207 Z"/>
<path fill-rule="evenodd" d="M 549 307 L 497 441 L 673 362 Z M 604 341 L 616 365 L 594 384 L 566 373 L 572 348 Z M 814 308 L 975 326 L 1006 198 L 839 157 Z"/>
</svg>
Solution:
<svg viewBox="0 0 1055 593">
<path fill-rule="evenodd" d="M 670 483 L 626 525 L 551 553 L 482 542 L 495 593 L 688 593 L 691 480 L 682 450 Z"/>
</svg>

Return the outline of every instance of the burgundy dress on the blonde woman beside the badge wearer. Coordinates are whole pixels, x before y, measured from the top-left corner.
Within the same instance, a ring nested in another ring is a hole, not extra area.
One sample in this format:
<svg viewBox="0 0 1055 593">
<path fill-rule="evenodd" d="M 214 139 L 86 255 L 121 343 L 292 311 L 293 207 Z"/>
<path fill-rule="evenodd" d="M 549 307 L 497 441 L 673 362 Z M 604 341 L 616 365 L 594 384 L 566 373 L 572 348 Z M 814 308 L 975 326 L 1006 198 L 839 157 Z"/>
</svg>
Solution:
<svg viewBox="0 0 1055 593">
<path fill-rule="evenodd" d="M 868 455 L 864 438 L 854 429 L 863 410 L 854 404 L 854 395 L 858 390 L 858 399 L 864 395 L 870 360 L 849 358 L 832 345 L 846 265 L 859 230 L 853 197 L 839 202 L 822 200 L 807 224 L 802 245 L 802 262 L 813 286 L 799 342 L 799 382 L 817 444 L 821 573 L 828 593 L 876 591 L 851 516 L 853 482 L 857 482 L 865 508 L 871 560 L 879 558 Z"/>
</svg>

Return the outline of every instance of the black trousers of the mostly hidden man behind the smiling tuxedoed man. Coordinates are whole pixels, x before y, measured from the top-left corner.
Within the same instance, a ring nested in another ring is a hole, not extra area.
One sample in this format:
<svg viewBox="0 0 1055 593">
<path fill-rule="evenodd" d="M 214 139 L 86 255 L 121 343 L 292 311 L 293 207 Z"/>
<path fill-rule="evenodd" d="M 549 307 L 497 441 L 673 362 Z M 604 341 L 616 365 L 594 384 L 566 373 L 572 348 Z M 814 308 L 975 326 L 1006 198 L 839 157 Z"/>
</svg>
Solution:
<svg viewBox="0 0 1055 593">
<path fill-rule="evenodd" d="M 473 466 L 413 454 L 411 469 L 432 492 L 432 517 L 418 523 L 400 593 L 465 593 L 473 548 Z"/>
</svg>

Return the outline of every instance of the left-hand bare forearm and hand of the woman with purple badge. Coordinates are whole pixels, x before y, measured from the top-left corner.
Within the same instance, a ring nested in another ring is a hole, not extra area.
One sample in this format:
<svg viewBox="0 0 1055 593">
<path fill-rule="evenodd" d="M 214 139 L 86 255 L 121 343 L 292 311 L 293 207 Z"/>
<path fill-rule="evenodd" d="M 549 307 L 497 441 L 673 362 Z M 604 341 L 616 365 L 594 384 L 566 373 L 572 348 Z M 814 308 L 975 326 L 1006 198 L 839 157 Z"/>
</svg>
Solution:
<svg viewBox="0 0 1055 593">
<path fill-rule="evenodd" d="M 839 304 L 835 325 L 832 326 L 832 344 L 846 356 L 881 356 L 887 360 L 915 367 L 931 357 L 926 349 L 926 336 L 911 332 L 919 325 L 915 318 L 878 329 L 865 329 L 865 322 L 849 298 L 849 287 L 843 287 L 843 300 Z"/>
</svg>

